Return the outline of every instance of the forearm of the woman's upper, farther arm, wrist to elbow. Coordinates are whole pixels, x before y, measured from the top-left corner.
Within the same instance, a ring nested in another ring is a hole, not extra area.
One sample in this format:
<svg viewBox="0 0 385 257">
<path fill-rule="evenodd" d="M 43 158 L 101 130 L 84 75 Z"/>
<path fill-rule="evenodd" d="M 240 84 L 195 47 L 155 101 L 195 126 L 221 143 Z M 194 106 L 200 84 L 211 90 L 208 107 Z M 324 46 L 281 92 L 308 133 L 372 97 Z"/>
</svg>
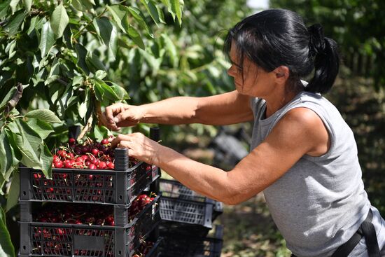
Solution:
<svg viewBox="0 0 385 257">
<path fill-rule="evenodd" d="M 141 123 L 188 124 L 193 123 L 197 110 L 196 97 L 172 97 L 140 106 L 144 115 Z"/>
</svg>

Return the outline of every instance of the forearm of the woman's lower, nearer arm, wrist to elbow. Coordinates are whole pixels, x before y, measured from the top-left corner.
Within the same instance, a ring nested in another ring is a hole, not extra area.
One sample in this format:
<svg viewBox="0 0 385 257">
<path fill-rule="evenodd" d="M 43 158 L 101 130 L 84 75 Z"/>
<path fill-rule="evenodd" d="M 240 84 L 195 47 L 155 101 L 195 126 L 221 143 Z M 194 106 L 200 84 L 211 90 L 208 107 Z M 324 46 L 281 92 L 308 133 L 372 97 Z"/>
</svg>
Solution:
<svg viewBox="0 0 385 257">
<path fill-rule="evenodd" d="M 197 193 L 226 204 L 235 201 L 233 183 L 222 169 L 191 160 L 165 146 L 155 165 Z"/>
</svg>

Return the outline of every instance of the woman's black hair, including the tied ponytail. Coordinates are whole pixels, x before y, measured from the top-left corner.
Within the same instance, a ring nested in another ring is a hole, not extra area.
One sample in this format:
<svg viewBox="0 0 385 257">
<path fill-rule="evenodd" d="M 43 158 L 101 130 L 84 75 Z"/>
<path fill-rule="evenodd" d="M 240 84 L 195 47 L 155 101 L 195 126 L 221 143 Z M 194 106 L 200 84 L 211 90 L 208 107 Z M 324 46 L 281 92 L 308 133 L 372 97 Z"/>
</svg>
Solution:
<svg viewBox="0 0 385 257">
<path fill-rule="evenodd" d="M 267 72 L 281 65 L 288 67 L 293 81 L 314 70 L 314 77 L 304 88 L 309 92 L 328 92 L 338 74 L 337 43 L 323 36 L 321 25 L 306 27 L 293 11 L 270 9 L 241 20 L 225 39 L 224 50 L 229 58 L 233 42 L 240 70 L 245 56 Z"/>
</svg>

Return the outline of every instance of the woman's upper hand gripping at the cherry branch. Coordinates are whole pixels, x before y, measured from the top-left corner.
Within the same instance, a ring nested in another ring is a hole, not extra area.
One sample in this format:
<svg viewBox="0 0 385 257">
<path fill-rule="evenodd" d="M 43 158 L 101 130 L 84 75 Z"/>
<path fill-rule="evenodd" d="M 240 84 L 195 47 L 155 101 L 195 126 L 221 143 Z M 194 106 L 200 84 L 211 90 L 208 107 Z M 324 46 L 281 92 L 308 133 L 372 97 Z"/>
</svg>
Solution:
<svg viewBox="0 0 385 257">
<path fill-rule="evenodd" d="M 143 116 L 140 106 L 118 103 L 106 107 L 102 123 L 111 130 L 120 130 L 137 125 Z"/>
</svg>

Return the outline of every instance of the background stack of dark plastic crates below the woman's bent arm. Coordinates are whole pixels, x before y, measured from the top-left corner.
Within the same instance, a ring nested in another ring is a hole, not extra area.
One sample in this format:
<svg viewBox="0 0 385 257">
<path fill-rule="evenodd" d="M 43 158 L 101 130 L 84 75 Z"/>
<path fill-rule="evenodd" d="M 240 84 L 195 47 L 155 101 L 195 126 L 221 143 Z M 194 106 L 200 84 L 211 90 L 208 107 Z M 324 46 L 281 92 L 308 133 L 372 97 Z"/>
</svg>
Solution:
<svg viewBox="0 0 385 257">
<path fill-rule="evenodd" d="M 174 180 L 160 179 L 160 190 L 162 256 L 221 256 L 223 227 L 212 228 L 223 212 L 223 203 Z"/>
</svg>

